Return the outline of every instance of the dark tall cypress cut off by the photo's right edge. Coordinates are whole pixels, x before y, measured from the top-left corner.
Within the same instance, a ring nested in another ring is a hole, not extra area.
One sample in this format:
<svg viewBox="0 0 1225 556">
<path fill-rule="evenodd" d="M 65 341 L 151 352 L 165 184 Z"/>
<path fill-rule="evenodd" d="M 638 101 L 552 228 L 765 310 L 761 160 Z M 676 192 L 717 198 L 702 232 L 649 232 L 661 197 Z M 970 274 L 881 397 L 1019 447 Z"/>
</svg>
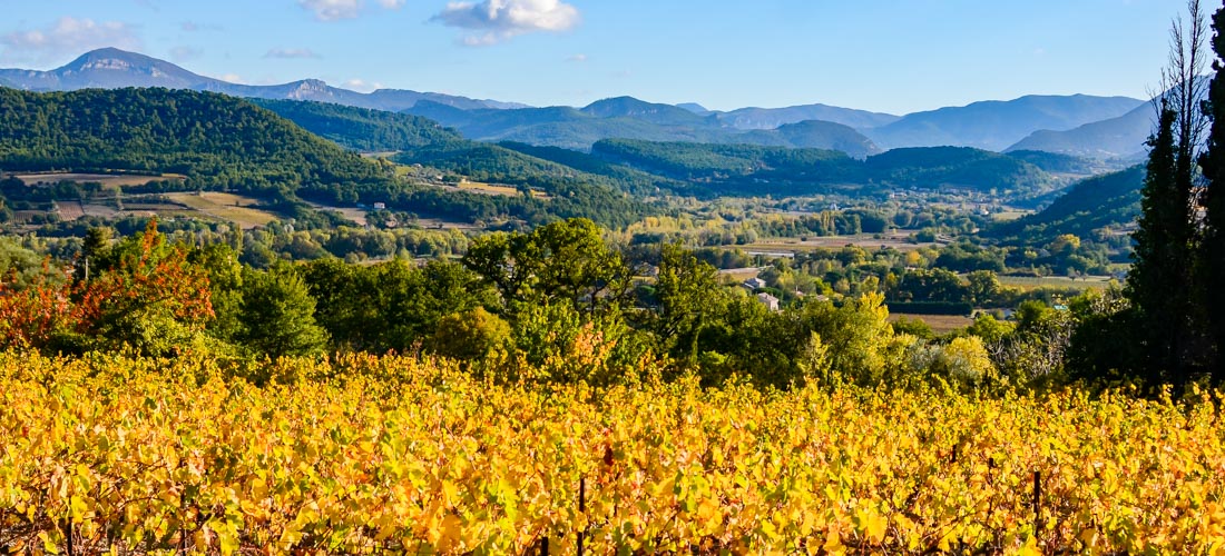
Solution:
<svg viewBox="0 0 1225 556">
<path fill-rule="evenodd" d="M 1225 7 L 1213 16 L 1216 32 L 1212 45 L 1225 59 Z M 1213 379 L 1225 379 L 1225 66 L 1213 64 L 1214 76 L 1208 89 L 1205 112 L 1213 120 L 1208 147 L 1199 159 L 1208 186 L 1204 189 L 1204 227 L 1199 242 L 1199 285 L 1209 315 L 1209 336 L 1215 345 Z"/>
</svg>

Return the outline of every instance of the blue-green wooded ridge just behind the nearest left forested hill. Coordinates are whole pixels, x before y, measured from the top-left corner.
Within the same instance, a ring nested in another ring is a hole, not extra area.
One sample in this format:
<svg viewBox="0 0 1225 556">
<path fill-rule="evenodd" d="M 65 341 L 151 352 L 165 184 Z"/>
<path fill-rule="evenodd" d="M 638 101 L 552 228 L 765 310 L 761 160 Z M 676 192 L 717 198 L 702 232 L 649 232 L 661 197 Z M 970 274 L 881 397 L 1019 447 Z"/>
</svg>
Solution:
<svg viewBox="0 0 1225 556">
<path fill-rule="evenodd" d="M 404 150 L 461 139 L 437 122 L 408 114 L 300 100 L 252 100 L 304 130 L 363 152 Z"/>
</svg>

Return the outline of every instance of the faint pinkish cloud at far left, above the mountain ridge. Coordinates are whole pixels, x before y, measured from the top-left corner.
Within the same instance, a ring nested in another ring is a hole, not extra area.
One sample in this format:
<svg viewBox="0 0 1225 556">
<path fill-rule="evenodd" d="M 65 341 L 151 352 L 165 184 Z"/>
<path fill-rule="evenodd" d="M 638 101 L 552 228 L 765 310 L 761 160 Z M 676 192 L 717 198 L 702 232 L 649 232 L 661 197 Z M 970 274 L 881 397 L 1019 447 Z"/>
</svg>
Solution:
<svg viewBox="0 0 1225 556">
<path fill-rule="evenodd" d="M 61 17 L 50 27 L 18 31 L 0 37 L 4 57 L 48 61 L 66 54 L 83 54 L 104 46 L 140 50 L 141 40 L 135 29 L 118 21 L 97 22 L 88 18 Z"/>
</svg>

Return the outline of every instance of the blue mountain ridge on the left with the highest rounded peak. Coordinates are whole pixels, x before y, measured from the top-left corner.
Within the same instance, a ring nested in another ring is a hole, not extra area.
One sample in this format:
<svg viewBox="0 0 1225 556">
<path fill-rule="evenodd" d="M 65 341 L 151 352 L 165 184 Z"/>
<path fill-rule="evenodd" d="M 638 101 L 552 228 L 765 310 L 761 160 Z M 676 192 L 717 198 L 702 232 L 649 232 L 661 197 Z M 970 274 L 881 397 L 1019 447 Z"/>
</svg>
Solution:
<svg viewBox="0 0 1225 556">
<path fill-rule="evenodd" d="M 0 70 L 0 83 L 26 90 L 116 89 L 125 87 L 164 87 L 223 93 L 260 99 L 316 100 L 349 106 L 399 111 L 421 100 L 458 108 L 522 106 L 495 100 L 475 100 L 440 93 L 383 89 L 374 93 L 331 87 L 318 79 L 303 79 L 276 86 L 229 83 L 192 73 L 164 60 L 114 48 L 98 49 L 50 71 Z"/>
</svg>

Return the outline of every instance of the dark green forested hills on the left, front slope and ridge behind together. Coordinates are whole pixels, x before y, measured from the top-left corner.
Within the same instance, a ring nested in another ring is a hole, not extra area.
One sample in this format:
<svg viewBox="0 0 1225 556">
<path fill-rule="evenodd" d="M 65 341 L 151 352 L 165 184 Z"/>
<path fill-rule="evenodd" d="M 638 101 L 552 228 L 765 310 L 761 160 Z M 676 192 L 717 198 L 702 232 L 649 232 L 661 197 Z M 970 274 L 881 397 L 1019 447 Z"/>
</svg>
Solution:
<svg viewBox="0 0 1225 556">
<path fill-rule="evenodd" d="M 541 224 L 586 216 L 619 226 L 646 210 L 609 181 L 565 177 L 564 171 L 526 172 L 518 159 L 527 156 L 468 142 L 424 119 L 326 104 L 273 105 L 330 131 L 341 143 L 398 145 L 412 149 L 401 155 L 405 164 L 436 163 L 479 178 L 506 177 L 554 199 L 490 197 L 409 182 L 397 178 L 391 165 L 365 160 L 247 100 L 168 89 L 0 89 L 0 169 L 180 174 L 186 177 L 175 187 L 187 191 L 232 189 L 282 207 L 298 199 L 381 202 L 463 221 Z"/>
</svg>

